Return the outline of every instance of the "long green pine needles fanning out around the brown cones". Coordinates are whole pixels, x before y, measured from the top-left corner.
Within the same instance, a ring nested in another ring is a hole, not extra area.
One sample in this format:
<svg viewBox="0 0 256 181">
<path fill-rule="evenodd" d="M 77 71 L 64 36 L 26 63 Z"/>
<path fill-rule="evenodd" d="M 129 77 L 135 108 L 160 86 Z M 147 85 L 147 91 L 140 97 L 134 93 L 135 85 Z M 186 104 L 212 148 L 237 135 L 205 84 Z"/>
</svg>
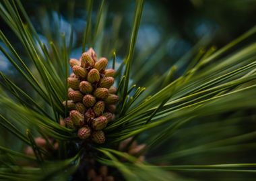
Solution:
<svg viewBox="0 0 256 181">
<path fill-rule="evenodd" d="M 104 49 L 101 36 L 107 5 L 102 1 L 95 25 L 92 5 L 93 1 L 88 1 L 83 51 L 89 46 Z M 220 50 L 212 47 L 203 52 L 199 44 L 164 74 L 156 75 L 154 66 L 166 54 L 167 42 L 156 48 L 147 62 L 148 52 L 135 56 L 142 9 L 143 1 L 136 1 L 129 50 L 116 76 L 121 99 L 117 119 L 104 129 L 106 144 L 94 145 L 100 153 L 98 161 L 116 168 L 127 180 L 253 180 L 255 159 L 246 154 L 255 152 L 256 43 L 242 48 L 237 45 L 255 34 L 256 27 Z M 68 154 L 67 145 L 77 137 L 59 124 L 67 115 L 62 102 L 67 100 L 72 42 L 66 44 L 66 35 L 59 34 L 59 41 L 49 39 L 50 46 L 46 46 L 20 1 L 2 1 L 0 15 L 22 44 L 22 52 L 15 50 L 2 31 L 0 40 L 6 48 L 0 50 L 30 87 L 24 90 L 0 72 L 0 125 L 13 136 L 5 143 L 5 135 L 1 135 L 0 156 L 5 159 L 0 163 L 0 179 L 69 180 L 84 151 Z M 106 49 L 117 67 L 115 47 Z M 152 74 L 145 80 L 148 72 Z M 47 153 L 34 143 L 36 135 L 56 139 L 59 154 L 44 160 Z M 146 162 L 115 150 L 116 143 L 129 137 L 146 143 Z M 25 145 L 32 146 L 34 157 L 23 154 Z M 210 178 L 208 172 L 216 176 Z"/>
</svg>

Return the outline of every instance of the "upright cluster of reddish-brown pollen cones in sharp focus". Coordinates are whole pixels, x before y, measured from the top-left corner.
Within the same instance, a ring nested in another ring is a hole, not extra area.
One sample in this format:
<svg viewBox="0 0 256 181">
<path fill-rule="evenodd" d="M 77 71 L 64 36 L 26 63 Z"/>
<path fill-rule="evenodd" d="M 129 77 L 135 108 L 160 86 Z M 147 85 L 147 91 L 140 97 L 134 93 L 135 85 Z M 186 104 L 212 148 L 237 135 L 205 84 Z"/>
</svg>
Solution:
<svg viewBox="0 0 256 181">
<path fill-rule="evenodd" d="M 115 70 L 106 69 L 108 60 L 97 59 L 92 48 L 84 52 L 79 60 L 71 58 L 73 73 L 67 78 L 68 98 L 63 105 L 69 110 L 64 119 L 66 127 L 77 129 L 80 139 L 92 139 L 104 143 L 102 129 L 115 119 L 115 104 L 119 97 L 113 86 Z"/>
</svg>

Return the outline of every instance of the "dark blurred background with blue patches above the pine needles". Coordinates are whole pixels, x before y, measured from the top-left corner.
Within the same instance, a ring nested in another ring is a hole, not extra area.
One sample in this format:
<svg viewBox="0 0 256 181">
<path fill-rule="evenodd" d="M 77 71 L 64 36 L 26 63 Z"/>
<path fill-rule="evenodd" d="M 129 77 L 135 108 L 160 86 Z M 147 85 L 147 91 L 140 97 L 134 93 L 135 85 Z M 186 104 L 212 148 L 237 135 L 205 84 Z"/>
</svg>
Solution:
<svg viewBox="0 0 256 181">
<path fill-rule="evenodd" d="M 92 23 L 96 21 L 100 2 L 94 1 Z M 82 32 L 86 28 L 84 1 L 23 0 L 22 3 L 41 34 L 49 31 L 48 25 L 52 28 L 56 25 L 59 13 L 62 32 L 70 34 L 73 26 L 72 56 L 79 55 L 80 50 L 76 49 L 80 48 Z M 112 48 L 117 50 L 118 56 L 123 57 L 129 43 L 135 1 L 110 0 L 106 3 L 108 10 L 103 38 L 109 42 L 106 46 L 115 46 Z M 209 38 L 211 45 L 220 48 L 255 25 L 255 10 L 254 0 L 146 0 L 137 38 L 137 54 L 143 50 L 157 51 L 163 43 L 166 43 L 167 53 L 164 62 L 172 64 L 170 62 L 177 61 L 202 38 Z M 8 32 L 5 23 L 1 23 L 0 27 L 5 33 Z M 9 38 L 15 42 L 15 37 L 9 36 Z M 46 41 L 45 36 L 41 38 Z M 102 50 L 102 54 L 109 54 L 110 49 Z M 7 63 L 3 58 L 0 61 L 1 70 L 7 70 Z"/>
</svg>

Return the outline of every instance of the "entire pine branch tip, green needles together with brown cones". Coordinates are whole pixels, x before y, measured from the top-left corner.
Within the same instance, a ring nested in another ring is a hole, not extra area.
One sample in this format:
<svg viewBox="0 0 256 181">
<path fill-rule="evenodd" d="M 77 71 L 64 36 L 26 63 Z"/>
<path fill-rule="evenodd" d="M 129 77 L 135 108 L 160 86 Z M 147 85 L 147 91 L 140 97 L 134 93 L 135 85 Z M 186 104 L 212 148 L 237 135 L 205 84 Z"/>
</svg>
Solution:
<svg viewBox="0 0 256 181">
<path fill-rule="evenodd" d="M 102 40 L 106 2 L 96 22 L 92 7 L 75 60 L 73 34 L 49 26 L 42 42 L 20 1 L 0 2 L 19 42 L 1 29 L 18 76 L 0 72 L 0 180 L 255 180 L 256 27 L 220 50 L 197 44 L 158 74 L 168 41 L 135 52 L 143 1 L 119 67 Z"/>
</svg>

